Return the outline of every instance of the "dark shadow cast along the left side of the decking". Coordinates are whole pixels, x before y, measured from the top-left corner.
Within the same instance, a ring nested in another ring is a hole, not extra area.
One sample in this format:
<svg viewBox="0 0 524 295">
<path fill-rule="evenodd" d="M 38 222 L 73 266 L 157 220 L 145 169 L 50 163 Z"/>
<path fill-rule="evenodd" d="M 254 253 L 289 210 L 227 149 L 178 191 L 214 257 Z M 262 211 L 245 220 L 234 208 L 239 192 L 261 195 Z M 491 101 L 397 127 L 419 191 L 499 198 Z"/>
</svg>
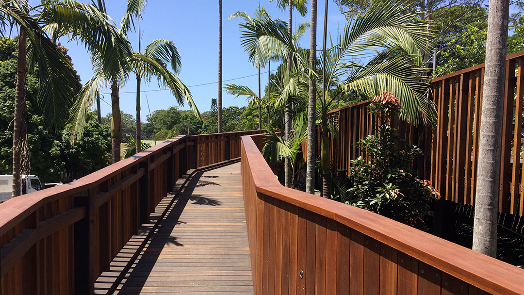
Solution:
<svg viewBox="0 0 524 295">
<path fill-rule="evenodd" d="M 146 283 L 156 261 L 165 245 L 183 247 L 171 236 L 174 226 L 187 224 L 179 220 L 188 202 L 196 205 L 220 206 L 221 202 L 200 194 L 193 195 L 195 187 L 220 185 L 202 181 L 205 171 L 196 172 L 176 194 L 169 193 L 157 205 L 158 216 L 151 216 L 151 223 L 143 224 L 137 235 L 133 236 L 111 263 L 111 270 L 104 272 L 95 284 L 96 294 L 139 293 Z M 176 197 L 178 195 L 178 198 Z M 160 222 L 158 222 L 160 221 Z"/>
</svg>

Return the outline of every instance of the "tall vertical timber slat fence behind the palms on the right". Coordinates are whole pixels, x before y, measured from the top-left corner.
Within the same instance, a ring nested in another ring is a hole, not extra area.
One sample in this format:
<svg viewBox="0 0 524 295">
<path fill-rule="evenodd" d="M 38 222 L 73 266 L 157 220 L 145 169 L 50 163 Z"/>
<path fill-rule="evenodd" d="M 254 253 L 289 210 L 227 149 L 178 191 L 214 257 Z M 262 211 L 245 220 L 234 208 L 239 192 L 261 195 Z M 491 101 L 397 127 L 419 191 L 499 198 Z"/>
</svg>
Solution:
<svg viewBox="0 0 524 295">
<path fill-rule="evenodd" d="M 523 71 L 524 51 L 507 57 L 498 202 L 499 212 L 520 216 L 524 216 Z M 422 148 L 423 177 L 431 181 L 442 198 L 459 204 L 475 202 L 483 84 L 484 64 L 433 79 L 436 126 L 421 133 L 406 123 L 394 124 L 408 143 Z M 331 162 L 337 163 L 337 169 L 351 167 L 350 160 L 361 155 L 354 144 L 373 132 L 375 116 L 368 114 L 369 102 L 330 113 L 332 119 L 339 121 L 339 137 L 330 135 Z"/>
</svg>

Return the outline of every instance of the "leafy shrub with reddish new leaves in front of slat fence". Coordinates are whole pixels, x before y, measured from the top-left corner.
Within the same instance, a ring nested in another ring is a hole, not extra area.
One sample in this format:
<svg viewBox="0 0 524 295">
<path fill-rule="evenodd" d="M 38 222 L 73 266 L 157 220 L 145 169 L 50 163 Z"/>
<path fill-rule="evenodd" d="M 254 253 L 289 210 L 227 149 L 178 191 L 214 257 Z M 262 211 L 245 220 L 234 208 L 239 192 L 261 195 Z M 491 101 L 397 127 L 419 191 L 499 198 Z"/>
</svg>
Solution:
<svg viewBox="0 0 524 295">
<path fill-rule="evenodd" d="M 411 168 L 414 157 L 422 154 L 420 149 L 407 146 L 390 126 L 398 107 L 398 99 L 391 93 L 373 99 L 369 108 L 378 115 L 376 134 L 356 144 L 365 156 L 352 161 L 348 174 L 351 188 L 342 201 L 424 229 L 425 220 L 432 215 L 430 203 L 440 195 Z"/>
</svg>

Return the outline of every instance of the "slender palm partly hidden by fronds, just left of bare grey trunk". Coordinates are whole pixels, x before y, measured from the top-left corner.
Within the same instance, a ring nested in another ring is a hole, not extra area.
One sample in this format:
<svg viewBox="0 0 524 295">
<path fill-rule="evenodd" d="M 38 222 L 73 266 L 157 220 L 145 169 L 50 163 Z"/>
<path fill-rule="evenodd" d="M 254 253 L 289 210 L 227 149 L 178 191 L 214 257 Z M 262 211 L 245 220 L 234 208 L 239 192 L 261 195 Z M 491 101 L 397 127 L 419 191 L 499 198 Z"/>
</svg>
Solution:
<svg viewBox="0 0 524 295">
<path fill-rule="evenodd" d="M 270 0 L 272 2 L 273 0 Z M 289 38 L 292 38 L 293 36 L 293 8 L 296 8 L 301 16 L 305 16 L 305 14 L 308 12 L 307 8 L 307 0 L 277 0 L 277 6 L 284 10 L 286 7 L 288 8 L 288 36 Z M 291 70 L 291 52 L 289 52 L 288 55 L 288 69 Z M 286 115 L 285 115 L 285 131 L 284 131 L 284 138 L 289 139 L 289 132 L 291 131 L 291 105 L 287 104 L 286 106 Z M 284 174 L 285 174 L 285 185 L 286 187 L 289 187 L 291 185 L 291 164 L 288 159 L 285 161 L 284 166 Z"/>
</svg>

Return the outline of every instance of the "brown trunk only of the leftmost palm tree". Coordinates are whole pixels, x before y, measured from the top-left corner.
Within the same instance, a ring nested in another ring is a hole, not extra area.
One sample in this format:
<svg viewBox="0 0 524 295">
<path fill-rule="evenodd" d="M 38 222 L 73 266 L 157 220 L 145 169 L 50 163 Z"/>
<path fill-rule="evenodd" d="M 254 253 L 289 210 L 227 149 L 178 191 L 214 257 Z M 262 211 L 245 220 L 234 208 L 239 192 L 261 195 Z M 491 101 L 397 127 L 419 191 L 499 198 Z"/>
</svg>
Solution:
<svg viewBox="0 0 524 295">
<path fill-rule="evenodd" d="M 13 128 L 13 191 L 11 196 L 21 194 L 20 174 L 22 169 L 23 141 L 27 137 L 24 134 L 24 116 L 26 103 L 26 73 L 27 73 L 27 49 L 26 33 L 20 29 L 20 40 L 18 41 L 18 60 L 15 90 L 15 118 Z M 27 132 L 27 130 L 26 130 Z"/>
</svg>

